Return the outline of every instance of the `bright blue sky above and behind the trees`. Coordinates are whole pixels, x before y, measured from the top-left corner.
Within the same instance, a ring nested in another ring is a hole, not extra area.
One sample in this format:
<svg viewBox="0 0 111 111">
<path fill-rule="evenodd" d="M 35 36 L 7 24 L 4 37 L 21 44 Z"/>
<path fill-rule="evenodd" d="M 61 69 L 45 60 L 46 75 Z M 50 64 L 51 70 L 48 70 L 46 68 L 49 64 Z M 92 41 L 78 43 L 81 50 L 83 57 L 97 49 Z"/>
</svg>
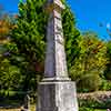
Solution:
<svg viewBox="0 0 111 111">
<path fill-rule="evenodd" d="M 18 3 L 19 0 L 0 0 L 0 4 L 9 13 L 18 12 Z M 68 3 L 75 14 L 77 27 L 81 32 L 90 30 L 101 39 L 109 39 L 107 27 L 110 29 L 111 0 L 68 0 Z"/>
</svg>

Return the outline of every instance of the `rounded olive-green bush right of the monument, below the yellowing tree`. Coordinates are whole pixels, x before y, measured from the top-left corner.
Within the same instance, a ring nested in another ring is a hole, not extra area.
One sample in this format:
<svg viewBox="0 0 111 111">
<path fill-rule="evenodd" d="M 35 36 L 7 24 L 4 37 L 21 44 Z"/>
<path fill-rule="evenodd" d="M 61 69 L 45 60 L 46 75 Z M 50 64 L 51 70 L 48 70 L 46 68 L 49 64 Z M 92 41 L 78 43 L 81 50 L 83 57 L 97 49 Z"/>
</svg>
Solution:
<svg viewBox="0 0 111 111">
<path fill-rule="evenodd" d="M 80 91 L 97 91 L 101 85 L 101 78 L 98 74 L 85 74 L 77 82 Z"/>
</svg>

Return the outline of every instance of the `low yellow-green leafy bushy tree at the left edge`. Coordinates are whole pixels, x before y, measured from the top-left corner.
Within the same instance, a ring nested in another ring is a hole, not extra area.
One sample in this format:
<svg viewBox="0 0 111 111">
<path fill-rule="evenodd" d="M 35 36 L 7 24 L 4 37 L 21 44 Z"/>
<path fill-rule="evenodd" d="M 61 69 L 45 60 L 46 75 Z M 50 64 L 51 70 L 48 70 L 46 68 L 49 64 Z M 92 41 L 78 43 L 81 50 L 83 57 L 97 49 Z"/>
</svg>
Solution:
<svg viewBox="0 0 111 111">
<path fill-rule="evenodd" d="M 0 61 L 0 90 L 7 90 L 9 94 L 10 89 L 17 89 L 20 83 L 20 69 L 11 65 L 7 58 L 2 58 Z"/>
</svg>

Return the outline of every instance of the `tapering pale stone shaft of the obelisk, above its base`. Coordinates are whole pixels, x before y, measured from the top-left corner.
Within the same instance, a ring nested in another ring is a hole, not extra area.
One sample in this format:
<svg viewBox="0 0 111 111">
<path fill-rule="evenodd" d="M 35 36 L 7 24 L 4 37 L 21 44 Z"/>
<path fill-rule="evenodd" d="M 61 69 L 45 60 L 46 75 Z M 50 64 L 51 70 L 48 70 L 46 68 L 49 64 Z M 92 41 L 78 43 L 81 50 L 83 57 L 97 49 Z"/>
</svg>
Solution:
<svg viewBox="0 0 111 111">
<path fill-rule="evenodd" d="M 50 0 L 49 3 L 60 2 Z M 58 4 L 59 6 L 59 4 Z M 49 14 L 44 78 L 68 79 L 61 13 L 54 9 Z"/>
</svg>

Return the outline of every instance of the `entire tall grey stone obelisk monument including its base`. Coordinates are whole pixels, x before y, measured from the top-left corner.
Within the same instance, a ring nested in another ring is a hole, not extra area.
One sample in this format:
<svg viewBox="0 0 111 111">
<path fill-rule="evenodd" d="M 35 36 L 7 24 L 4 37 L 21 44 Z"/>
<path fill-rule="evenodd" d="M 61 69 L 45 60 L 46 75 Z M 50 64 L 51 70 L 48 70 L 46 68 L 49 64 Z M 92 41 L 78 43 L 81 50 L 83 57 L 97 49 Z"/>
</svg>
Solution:
<svg viewBox="0 0 111 111">
<path fill-rule="evenodd" d="M 49 12 L 44 78 L 38 87 L 37 111 L 78 111 L 75 83 L 68 77 L 61 0 L 47 0 Z"/>
</svg>

